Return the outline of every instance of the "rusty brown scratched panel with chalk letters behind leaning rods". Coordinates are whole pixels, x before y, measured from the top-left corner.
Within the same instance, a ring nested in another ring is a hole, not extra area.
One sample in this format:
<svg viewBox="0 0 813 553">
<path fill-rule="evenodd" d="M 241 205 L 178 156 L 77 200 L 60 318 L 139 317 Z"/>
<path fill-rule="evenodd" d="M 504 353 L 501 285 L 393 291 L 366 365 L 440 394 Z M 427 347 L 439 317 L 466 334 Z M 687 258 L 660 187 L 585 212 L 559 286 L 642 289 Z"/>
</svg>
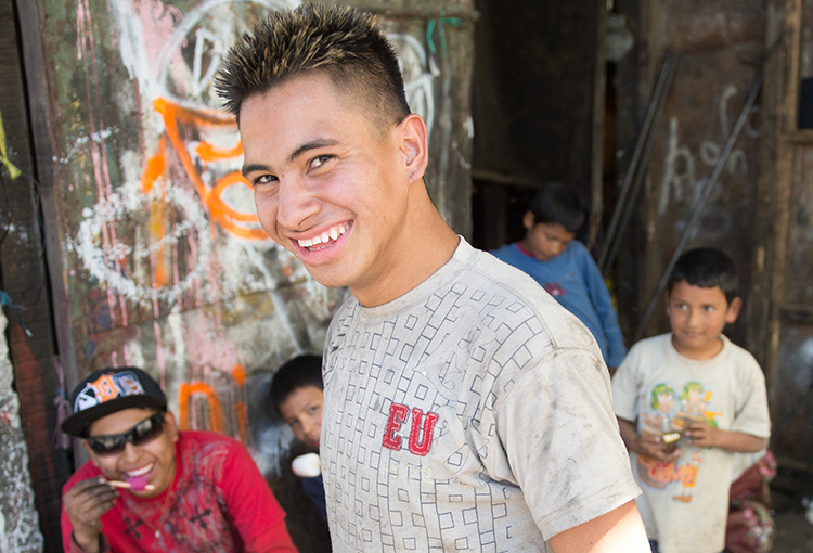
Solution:
<svg viewBox="0 0 813 553">
<path fill-rule="evenodd" d="M 764 7 L 756 0 L 640 2 L 646 10 L 636 12 L 633 4 L 637 3 L 618 4 L 637 34 L 635 50 L 619 67 L 622 171 L 666 52 L 680 53 L 680 61 L 655 133 L 641 208 L 620 248 L 619 305 L 628 334 L 637 327 L 761 70 L 765 16 Z M 748 114 L 687 244 L 687 248 L 725 250 L 737 265 L 743 291 L 748 290 L 754 240 L 758 106 Z M 644 336 L 668 329 L 661 303 Z M 744 345 L 744 318 L 728 334 Z"/>
</svg>

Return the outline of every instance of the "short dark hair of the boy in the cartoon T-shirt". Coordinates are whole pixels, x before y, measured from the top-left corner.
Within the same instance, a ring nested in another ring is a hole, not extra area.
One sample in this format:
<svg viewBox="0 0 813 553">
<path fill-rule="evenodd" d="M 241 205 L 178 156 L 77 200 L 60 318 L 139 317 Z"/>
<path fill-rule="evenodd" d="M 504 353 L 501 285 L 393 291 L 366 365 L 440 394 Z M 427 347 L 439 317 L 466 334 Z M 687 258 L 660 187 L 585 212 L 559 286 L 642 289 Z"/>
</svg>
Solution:
<svg viewBox="0 0 813 553">
<path fill-rule="evenodd" d="M 739 286 L 734 261 L 715 247 L 698 247 L 679 257 L 667 281 L 667 294 L 681 281 L 702 288 L 720 286 L 728 304 L 737 297 Z"/>
</svg>

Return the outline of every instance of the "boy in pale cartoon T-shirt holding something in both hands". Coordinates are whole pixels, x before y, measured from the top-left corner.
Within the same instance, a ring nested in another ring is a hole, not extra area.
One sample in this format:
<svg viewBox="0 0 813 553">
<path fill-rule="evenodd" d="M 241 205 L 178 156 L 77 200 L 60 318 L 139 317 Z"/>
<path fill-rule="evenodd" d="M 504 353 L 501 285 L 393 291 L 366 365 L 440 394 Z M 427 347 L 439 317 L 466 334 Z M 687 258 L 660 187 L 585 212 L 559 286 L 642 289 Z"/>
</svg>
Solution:
<svg viewBox="0 0 813 553">
<path fill-rule="evenodd" d="M 735 453 L 760 451 L 770 436 L 762 371 L 722 334 L 740 306 L 725 254 L 683 254 L 667 285 L 672 332 L 635 344 L 612 381 L 655 552 L 723 550 Z"/>
</svg>

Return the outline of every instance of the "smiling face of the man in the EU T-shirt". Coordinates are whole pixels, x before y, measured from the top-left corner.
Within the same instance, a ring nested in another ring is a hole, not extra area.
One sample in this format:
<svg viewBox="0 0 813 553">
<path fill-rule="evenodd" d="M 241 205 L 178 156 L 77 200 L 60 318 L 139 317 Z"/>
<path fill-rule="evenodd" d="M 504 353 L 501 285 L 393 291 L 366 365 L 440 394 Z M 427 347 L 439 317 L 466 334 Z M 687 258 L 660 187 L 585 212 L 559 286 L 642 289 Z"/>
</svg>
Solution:
<svg viewBox="0 0 813 553">
<path fill-rule="evenodd" d="M 317 281 L 357 297 L 387 281 L 409 244 L 404 123 L 373 120 L 321 72 L 249 97 L 240 112 L 243 172 L 262 228 Z"/>
</svg>

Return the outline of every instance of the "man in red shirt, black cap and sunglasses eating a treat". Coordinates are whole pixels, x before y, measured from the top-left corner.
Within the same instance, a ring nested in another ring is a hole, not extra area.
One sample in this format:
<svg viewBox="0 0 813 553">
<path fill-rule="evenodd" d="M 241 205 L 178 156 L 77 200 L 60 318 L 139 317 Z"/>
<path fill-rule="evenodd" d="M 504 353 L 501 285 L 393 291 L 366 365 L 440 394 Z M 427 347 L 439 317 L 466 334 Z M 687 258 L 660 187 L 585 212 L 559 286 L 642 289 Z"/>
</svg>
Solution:
<svg viewBox="0 0 813 553">
<path fill-rule="evenodd" d="M 179 430 L 144 371 L 96 371 L 70 402 L 62 430 L 82 438 L 90 461 L 63 489 L 66 553 L 296 552 L 246 448 Z"/>
</svg>

